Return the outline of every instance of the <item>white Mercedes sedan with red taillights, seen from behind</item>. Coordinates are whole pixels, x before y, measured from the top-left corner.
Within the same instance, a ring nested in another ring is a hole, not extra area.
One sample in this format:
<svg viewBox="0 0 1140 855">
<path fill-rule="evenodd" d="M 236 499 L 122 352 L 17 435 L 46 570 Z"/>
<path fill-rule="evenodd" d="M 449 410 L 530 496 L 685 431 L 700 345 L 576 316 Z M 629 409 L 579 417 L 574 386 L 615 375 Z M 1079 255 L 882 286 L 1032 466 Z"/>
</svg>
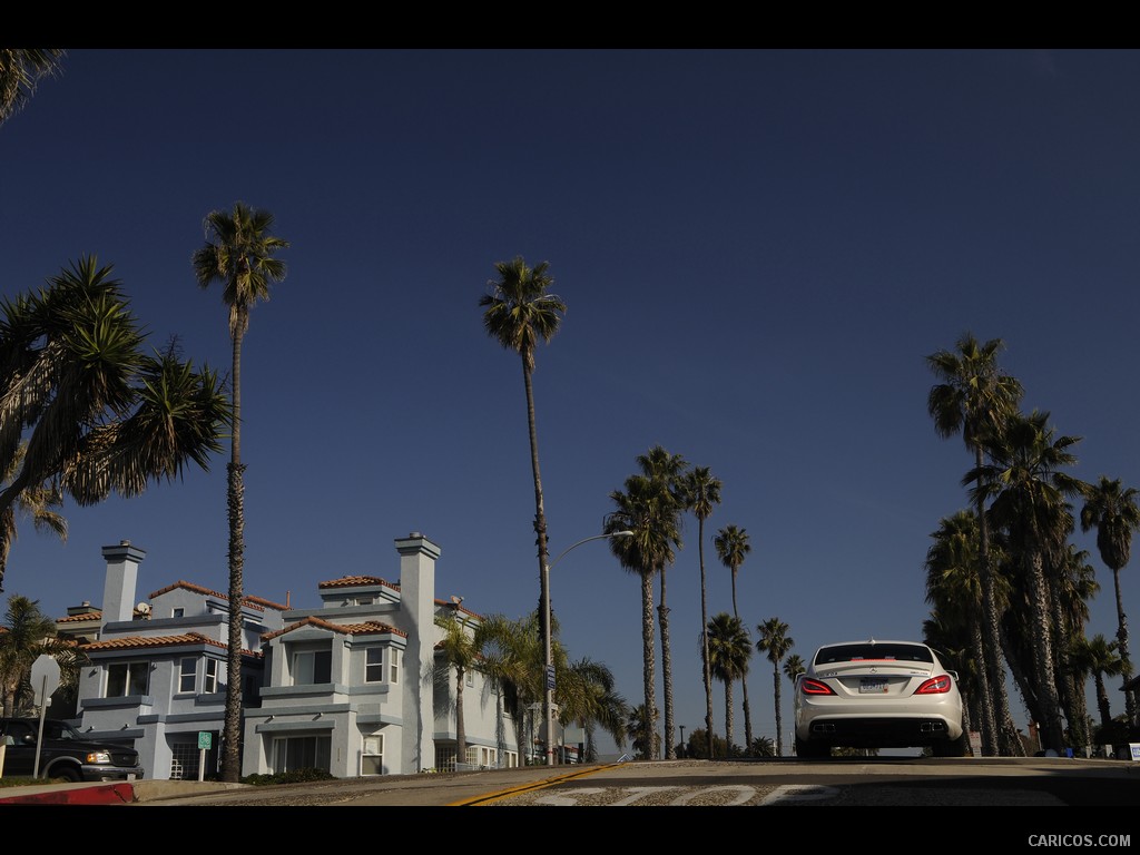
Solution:
<svg viewBox="0 0 1140 855">
<path fill-rule="evenodd" d="M 919 642 L 825 644 L 796 678 L 792 703 L 799 757 L 829 757 L 836 747 L 966 752 L 958 674 Z"/>
</svg>

